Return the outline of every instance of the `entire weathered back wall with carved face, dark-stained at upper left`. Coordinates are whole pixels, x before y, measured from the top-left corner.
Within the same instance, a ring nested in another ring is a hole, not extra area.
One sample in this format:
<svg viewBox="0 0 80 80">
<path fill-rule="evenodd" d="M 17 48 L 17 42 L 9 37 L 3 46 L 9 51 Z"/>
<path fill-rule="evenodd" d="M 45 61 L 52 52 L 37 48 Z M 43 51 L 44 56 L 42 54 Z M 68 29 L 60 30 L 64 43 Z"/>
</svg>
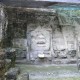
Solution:
<svg viewBox="0 0 80 80">
<path fill-rule="evenodd" d="M 55 9 L 5 9 L 9 21 L 7 27 L 13 31 L 9 33 L 12 47 L 26 49 L 27 60 L 47 62 L 76 58 L 79 24 L 72 22 L 66 14 L 57 14 Z"/>
</svg>

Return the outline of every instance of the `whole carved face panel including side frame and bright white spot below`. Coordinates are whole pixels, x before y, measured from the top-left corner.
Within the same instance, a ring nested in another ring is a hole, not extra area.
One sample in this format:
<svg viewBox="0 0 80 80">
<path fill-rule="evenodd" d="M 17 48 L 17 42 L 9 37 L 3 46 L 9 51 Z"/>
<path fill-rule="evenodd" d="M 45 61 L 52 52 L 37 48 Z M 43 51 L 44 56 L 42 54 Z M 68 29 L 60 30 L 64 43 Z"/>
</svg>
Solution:
<svg viewBox="0 0 80 80">
<path fill-rule="evenodd" d="M 33 26 L 28 26 L 28 28 Z M 31 28 L 31 30 L 30 28 L 27 34 L 30 59 L 35 60 L 34 58 L 39 58 L 43 55 L 44 57 L 49 57 L 51 55 L 51 29 L 40 25 L 36 25 L 36 28 Z"/>
</svg>

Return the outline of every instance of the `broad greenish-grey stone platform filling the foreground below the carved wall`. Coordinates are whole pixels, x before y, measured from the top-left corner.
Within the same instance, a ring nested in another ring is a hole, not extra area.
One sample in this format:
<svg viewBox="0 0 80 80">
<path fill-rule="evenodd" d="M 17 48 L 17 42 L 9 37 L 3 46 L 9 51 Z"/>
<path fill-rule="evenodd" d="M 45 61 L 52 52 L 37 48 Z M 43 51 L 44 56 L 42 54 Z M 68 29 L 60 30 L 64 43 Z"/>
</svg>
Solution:
<svg viewBox="0 0 80 80">
<path fill-rule="evenodd" d="M 65 65 L 26 65 L 18 64 L 21 74 L 17 80 L 79 80 L 80 72 L 76 64 Z"/>
</svg>

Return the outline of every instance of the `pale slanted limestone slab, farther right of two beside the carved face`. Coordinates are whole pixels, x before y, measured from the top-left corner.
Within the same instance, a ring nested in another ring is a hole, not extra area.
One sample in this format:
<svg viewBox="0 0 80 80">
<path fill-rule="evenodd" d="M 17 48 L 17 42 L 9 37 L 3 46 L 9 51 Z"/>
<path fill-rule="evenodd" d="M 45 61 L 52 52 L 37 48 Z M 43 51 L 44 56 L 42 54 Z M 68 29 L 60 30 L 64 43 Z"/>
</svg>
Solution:
<svg viewBox="0 0 80 80">
<path fill-rule="evenodd" d="M 75 43 L 75 28 L 73 26 L 64 26 L 62 28 L 63 36 L 66 43 L 66 48 L 68 50 L 75 50 L 76 49 L 76 43 Z"/>
</svg>

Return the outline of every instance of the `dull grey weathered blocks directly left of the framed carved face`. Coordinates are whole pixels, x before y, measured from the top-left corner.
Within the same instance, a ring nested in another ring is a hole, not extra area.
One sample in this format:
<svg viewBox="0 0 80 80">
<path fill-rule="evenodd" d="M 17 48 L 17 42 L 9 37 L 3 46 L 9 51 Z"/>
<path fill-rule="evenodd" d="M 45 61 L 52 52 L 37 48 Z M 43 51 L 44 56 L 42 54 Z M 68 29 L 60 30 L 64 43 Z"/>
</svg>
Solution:
<svg viewBox="0 0 80 80">
<path fill-rule="evenodd" d="M 27 54 L 27 39 L 13 39 L 13 47 L 16 48 L 16 59 L 24 59 Z"/>
</svg>

